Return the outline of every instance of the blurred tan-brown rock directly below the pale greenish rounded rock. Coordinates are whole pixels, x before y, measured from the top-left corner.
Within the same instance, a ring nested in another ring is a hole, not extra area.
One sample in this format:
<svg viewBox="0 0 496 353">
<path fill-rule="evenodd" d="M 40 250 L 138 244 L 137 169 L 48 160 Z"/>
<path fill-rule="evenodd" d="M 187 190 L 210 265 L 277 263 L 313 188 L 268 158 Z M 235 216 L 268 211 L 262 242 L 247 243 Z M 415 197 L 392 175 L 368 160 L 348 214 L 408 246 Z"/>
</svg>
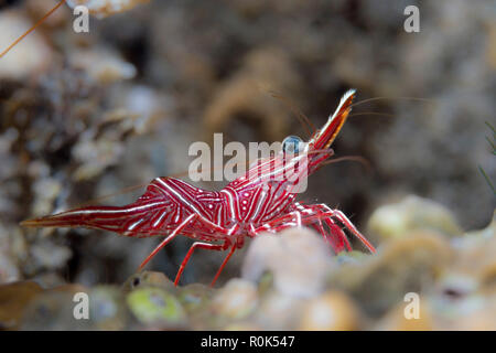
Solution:
<svg viewBox="0 0 496 353">
<path fill-rule="evenodd" d="M 342 265 L 331 274 L 328 287 L 344 290 L 367 314 L 379 317 L 406 293 L 432 286 L 452 257 L 442 236 L 416 232 L 386 243 L 362 263 Z"/>
</svg>

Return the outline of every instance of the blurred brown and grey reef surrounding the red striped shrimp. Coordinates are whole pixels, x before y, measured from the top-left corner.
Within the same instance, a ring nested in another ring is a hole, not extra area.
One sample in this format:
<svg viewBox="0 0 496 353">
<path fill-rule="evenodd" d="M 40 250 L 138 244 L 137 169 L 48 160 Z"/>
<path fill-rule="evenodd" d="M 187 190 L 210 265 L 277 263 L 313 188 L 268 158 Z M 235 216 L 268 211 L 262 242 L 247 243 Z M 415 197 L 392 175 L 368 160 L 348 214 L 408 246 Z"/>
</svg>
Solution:
<svg viewBox="0 0 496 353">
<path fill-rule="evenodd" d="M 494 1 L 130 3 L 96 9 L 89 33 L 63 6 L 0 58 L 0 329 L 496 329 L 496 197 L 479 170 L 495 183 Z M 0 50 L 55 4 L 0 1 Z M 419 33 L 403 30 L 409 4 Z M 342 210 L 376 257 L 333 257 L 292 229 L 236 253 L 218 289 L 200 284 L 224 254 L 195 253 L 175 289 L 188 239 L 133 275 L 159 238 L 19 225 L 103 195 L 130 201 L 139 192 L 126 188 L 187 172 L 190 145 L 214 132 L 306 138 L 270 92 L 319 127 L 352 87 L 357 101 L 388 97 L 356 106 L 333 146 L 371 169 L 325 167 L 302 200 Z M 82 290 L 96 298 L 86 323 L 65 310 Z M 423 320 L 405 321 L 409 291 L 428 303 Z"/>
</svg>

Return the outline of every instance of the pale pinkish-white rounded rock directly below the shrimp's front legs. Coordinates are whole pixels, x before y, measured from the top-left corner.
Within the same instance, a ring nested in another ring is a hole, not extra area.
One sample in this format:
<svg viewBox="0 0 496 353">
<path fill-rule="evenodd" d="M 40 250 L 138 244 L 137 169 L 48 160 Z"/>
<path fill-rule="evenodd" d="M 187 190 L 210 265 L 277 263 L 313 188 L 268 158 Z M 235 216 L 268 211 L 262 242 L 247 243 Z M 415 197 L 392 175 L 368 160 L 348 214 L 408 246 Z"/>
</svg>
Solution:
<svg viewBox="0 0 496 353">
<path fill-rule="evenodd" d="M 312 297 L 324 287 L 331 258 L 328 245 L 308 228 L 288 229 L 277 235 L 260 234 L 248 249 L 241 275 L 257 281 L 269 270 L 280 292 Z"/>
</svg>

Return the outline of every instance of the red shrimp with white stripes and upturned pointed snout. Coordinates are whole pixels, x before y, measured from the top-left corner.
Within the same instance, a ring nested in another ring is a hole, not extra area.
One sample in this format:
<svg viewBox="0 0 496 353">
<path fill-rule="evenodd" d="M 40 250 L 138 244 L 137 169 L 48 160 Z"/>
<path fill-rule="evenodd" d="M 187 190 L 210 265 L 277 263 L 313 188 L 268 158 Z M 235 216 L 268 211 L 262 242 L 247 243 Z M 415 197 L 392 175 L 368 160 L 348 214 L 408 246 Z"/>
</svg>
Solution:
<svg viewBox="0 0 496 353">
<path fill-rule="evenodd" d="M 330 146 L 346 121 L 355 90 L 348 90 L 336 111 L 308 142 L 289 137 L 276 156 L 255 163 L 220 191 L 207 191 L 174 178 L 157 178 L 133 203 L 125 206 L 86 206 L 24 221 L 32 227 L 87 227 L 132 237 L 165 236 L 143 260 L 142 269 L 176 236 L 195 240 L 182 261 L 174 285 L 195 249 L 228 250 L 212 286 L 246 237 L 308 226 L 319 232 L 334 253 L 352 250 L 347 234 L 357 237 L 370 253 L 374 246 L 338 210 L 325 204 L 296 202 L 301 178 L 315 172 L 333 154 Z M 290 153 L 290 149 L 292 150 Z M 293 153 L 296 151 L 298 153 Z M 296 178 L 287 178 L 296 169 Z"/>
</svg>

